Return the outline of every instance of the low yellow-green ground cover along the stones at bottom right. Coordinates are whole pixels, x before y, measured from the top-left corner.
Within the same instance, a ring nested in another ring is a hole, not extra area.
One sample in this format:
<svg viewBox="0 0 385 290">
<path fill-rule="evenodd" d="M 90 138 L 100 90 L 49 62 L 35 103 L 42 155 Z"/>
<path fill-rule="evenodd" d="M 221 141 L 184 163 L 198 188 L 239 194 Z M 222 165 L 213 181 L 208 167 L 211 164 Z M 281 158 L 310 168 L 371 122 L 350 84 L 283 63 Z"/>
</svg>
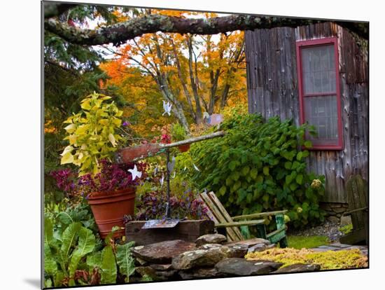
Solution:
<svg viewBox="0 0 385 290">
<path fill-rule="evenodd" d="M 269 260 L 283 263 L 283 267 L 295 263 L 311 263 L 321 266 L 321 270 L 367 268 L 367 256 L 360 254 L 359 249 L 342 251 L 315 252 L 309 249 L 269 249 L 250 253 L 248 260 Z"/>
</svg>

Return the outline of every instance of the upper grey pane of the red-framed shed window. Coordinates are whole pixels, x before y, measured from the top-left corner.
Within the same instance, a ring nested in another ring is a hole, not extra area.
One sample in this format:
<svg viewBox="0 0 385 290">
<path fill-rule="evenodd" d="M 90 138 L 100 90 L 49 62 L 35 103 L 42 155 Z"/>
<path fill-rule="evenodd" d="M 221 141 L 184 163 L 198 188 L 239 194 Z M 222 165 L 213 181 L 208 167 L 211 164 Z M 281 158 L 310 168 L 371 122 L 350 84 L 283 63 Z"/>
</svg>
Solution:
<svg viewBox="0 0 385 290">
<path fill-rule="evenodd" d="M 334 46 L 302 48 L 301 55 L 304 93 L 335 92 Z"/>
</svg>

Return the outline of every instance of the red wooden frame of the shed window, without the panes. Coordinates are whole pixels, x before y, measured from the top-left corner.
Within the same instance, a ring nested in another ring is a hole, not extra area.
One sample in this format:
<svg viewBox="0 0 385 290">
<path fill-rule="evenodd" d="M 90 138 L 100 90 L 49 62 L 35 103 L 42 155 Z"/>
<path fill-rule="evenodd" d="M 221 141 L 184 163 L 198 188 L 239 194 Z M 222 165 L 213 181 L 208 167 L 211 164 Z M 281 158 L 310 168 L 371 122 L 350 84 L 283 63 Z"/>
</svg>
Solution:
<svg viewBox="0 0 385 290">
<path fill-rule="evenodd" d="M 303 88 L 303 74 L 302 74 L 302 48 L 309 48 L 314 46 L 326 46 L 332 44 L 335 50 L 335 92 L 324 92 L 318 94 L 304 94 Z M 304 98 L 305 97 L 323 97 L 336 95 L 337 97 L 337 129 L 338 129 L 338 145 L 315 145 L 312 146 L 313 150 L 342 150 L 343 141 L 342 141 L 342 113 L 341 113 L 341 91 L 339 89 L 339 56 L 338 56 L 338 46 L 337 46 L 337 37 L 328 37 L 325 39 L 312 39 L 307 41 L 297 41 L 296 42 L 297 50 L 297 74 L 298 74 L 298 88 L 300 92 L 300 123 L 305 123 L 304 120 Z"/>
</svg>

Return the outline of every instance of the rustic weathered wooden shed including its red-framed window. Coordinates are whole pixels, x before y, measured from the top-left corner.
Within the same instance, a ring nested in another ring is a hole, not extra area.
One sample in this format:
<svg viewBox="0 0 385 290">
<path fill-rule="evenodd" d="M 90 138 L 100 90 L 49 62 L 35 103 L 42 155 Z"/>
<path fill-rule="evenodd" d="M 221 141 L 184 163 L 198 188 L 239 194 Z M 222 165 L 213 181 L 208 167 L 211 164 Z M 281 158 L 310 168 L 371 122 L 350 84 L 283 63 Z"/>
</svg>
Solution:
<svg viewBox="0 0 385 290">
<path fill-rule="evenodd" d="M 331 22 L 245 32 L 248 110 L 309 122 L 308 170 L 324 174 L 324 202 L 346 207 L 345 183 L 368 178 L 367 46 Z"/>
</svg>

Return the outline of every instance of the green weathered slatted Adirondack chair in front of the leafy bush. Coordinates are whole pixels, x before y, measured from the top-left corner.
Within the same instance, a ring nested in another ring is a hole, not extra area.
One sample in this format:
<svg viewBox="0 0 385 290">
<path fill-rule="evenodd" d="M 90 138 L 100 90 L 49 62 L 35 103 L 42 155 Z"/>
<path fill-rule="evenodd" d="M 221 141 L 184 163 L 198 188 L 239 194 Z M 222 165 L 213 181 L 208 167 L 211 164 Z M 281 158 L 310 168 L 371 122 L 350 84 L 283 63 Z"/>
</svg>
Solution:
<svg viewBox="0 0 385 290">
<path fill-rule="evenodd" d="M 200 193 L 200 197 L 209 209 L 207 214 L 214 221 L 214 226 L 218 228 L 219 231 L 221 231 L 221 228 L 225 228 L 225 233 L 229 242 L 245 240 L 241 234 L 241 230 L 239 230 L 240 226 L 256 226 L 258 237 L 269 240 L 272 243 L 279 242 L 280 247 L 287 247 L 284 221 L 284 214 L 287 210 L 260 212 L 258 214 L 246 214 L 243 216 L 230 216 L 216 197 L 215 193 Z M 274 216 L 276 221 L 276 230 L 273 230 L 271 233 L 267 233 L 265 225 L 266 219 L 269 216 Z"/>
</svg>

